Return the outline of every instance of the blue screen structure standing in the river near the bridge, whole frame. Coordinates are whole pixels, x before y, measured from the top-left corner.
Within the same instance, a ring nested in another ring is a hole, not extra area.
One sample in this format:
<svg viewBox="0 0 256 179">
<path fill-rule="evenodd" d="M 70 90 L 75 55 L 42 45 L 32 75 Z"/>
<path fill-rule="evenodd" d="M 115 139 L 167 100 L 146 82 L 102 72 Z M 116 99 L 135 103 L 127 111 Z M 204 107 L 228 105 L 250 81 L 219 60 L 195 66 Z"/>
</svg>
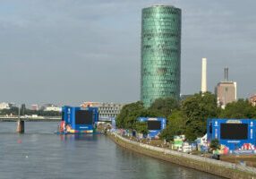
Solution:
<svg viewBox="0 0 256 179">
<path fill-rule="evenodd" d="M 61 132 L 94 132 L 97 122 L 97 107 L 62 107 Z"/>
</svg>

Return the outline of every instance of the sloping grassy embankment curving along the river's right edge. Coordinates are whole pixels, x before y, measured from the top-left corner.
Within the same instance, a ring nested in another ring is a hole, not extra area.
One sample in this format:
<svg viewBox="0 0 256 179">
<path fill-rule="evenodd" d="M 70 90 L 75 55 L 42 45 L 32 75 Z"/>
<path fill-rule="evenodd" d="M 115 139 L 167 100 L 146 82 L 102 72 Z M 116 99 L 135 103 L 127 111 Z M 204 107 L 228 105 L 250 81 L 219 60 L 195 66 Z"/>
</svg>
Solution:
<svg viewBox="0 0 256 179">
<path fill-rule="evenodd" d="M 110 132 L 107 133 L 111 140 L 115 141 L 116 144 L 126 148 L 131 149 L 132 151 L 141 153 L 143 155 L 162 159 L 168 162 L 172 162 L 181 166 L 191 167 L 203 172 L 207 172 L 213 175 L 219 175 L 226 178 L 241 178 L 241 179 L 252 179 L 253 177 L 256 178 L 256 175 L 252 175 L 249 173 L 245 173 L 239 170 L 224 168 L 223 166 L 211 165 L 206 162 L 201 162 L 197 160 L 193 160 L 191 158 L 183 158 L 178 157 L 170 154 L 165 154 L 163 152 L 158 152 L 152 149 L 145 149 L 141 146 L 134 145 L 130 142 L 123 141 L 120 138 L 115 137 L 115 135 L 111 134 Z"/>
</svg>

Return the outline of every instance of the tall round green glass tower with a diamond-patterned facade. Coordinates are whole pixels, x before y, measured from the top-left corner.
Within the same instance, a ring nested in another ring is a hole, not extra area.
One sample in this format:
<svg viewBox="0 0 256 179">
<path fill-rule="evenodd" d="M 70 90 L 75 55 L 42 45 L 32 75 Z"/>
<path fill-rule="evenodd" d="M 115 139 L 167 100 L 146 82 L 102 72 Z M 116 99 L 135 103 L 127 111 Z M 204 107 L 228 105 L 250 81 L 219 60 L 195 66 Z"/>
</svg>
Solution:
<svg viewBox="0 0 256 179">
<path fill-rule="evenodd" d="M 141 18 L 141 101 L 149 107 L 156 98 L 179 100 L 182 11 L 153 5 Z"/>
</svg>

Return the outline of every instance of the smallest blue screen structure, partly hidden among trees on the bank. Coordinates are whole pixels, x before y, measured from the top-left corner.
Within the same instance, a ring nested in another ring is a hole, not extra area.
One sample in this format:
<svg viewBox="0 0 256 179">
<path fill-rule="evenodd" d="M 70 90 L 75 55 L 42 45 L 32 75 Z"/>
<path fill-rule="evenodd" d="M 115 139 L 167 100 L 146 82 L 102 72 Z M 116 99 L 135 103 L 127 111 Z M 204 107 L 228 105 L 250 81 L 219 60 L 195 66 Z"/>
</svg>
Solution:
<svg viewBox="0 0 256 179">
<path fill-rule="evenodd" d="M 166 128 L 166 118 L 139 117 L 138 121 L 148 122 L 150 137 L 158 136 L 159 132 Z"/>
</svg>

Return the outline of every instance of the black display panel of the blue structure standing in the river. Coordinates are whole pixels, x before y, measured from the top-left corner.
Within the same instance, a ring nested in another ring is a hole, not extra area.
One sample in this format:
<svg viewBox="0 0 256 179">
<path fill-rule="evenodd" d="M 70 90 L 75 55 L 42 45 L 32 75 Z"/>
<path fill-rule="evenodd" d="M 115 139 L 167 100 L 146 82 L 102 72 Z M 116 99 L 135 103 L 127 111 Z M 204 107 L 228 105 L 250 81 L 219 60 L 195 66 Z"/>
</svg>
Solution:
<svg viewBox="0 0 256 179">
<path fill-rule="evenodd" d="M 92 124 L 92 111 L 75 111 L 75 124 Z"/>
</svg>

